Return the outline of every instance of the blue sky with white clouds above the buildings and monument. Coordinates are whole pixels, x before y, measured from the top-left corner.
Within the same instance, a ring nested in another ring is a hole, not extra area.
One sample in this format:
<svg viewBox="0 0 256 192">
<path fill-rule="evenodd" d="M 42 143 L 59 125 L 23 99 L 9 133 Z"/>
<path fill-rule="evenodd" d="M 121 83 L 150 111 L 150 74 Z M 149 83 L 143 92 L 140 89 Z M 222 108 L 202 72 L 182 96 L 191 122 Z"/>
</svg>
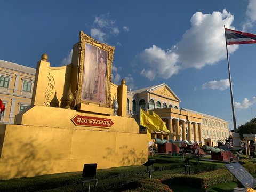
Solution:
<svg viewBox="0 0 256 192">
<path fill-rule="evenodd" d="M 226 28 L 256 34 L 256 0 L 0 1 L 0 59 L 36 68 L 70 63 L 79 31 L 115 46 L 113 82 L 168 84 L 180 107 L 233 129 Z M 237 126 L 256 116 L 256 44 L 229 45 Z"/>
</svg>

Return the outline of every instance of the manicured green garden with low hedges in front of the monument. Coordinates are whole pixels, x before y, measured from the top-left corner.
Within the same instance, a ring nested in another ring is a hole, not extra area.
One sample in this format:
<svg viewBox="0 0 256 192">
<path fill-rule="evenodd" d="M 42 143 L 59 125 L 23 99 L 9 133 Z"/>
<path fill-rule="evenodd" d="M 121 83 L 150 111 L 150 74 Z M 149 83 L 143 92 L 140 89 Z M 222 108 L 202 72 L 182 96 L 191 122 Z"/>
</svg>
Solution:
<svg viewBox="0 0 256 192">
<path fill-rule="evenodd" d="M 185 157 L 186 158 L 186 157 Z M 225 163 L 190 158 L 191 174 L 184 174 L 183 158 L 171 155 L 155 155 L 152 178 L 145 166 L 129 166 L 97 170 L 97 191 L 233 191 L 237 187 L 233 175 L 225 169 Z M 256 176 L 256 160 L 239 161 L 253 177 Z M 83 167 L 82 167 L 83 168 Z M 81 169 L 82 169 L 81 168 Z M 151 169 L 151 166 L 149 167 Z M 81 191 L 81 172 L 42 175 L 31 178 L 0 181 L 0 191 Z M 210 189 L 211 188 L 211 189 Z M 86 191 L 86 190 L 85 190 Z M 93 185 L 91 185 L 93 191 Z"/>
</svg>

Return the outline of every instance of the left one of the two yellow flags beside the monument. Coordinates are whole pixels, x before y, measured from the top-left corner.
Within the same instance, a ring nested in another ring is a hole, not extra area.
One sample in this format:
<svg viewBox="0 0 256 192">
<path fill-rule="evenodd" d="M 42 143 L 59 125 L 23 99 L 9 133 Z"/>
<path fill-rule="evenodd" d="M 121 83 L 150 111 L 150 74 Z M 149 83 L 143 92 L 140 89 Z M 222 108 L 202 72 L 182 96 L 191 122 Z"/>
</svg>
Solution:
<svg viewBox="0 0 256 192">
<path fill-rule="evenodd" d="M 157 118 L 140 109 L 140 125 L 147 127 L 149 130 L 160 131 L 157 127 Z"/>
</svg>

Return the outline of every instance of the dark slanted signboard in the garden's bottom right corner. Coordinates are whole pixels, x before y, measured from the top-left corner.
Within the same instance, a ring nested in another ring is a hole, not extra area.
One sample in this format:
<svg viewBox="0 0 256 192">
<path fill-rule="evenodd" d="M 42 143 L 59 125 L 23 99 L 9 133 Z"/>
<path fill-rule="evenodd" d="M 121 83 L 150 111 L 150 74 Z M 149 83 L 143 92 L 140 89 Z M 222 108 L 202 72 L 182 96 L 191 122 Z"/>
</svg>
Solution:
<svg viewBox="0 0 256 192">
<path fill-rule="evenodd" d="M 230 171 L 234 177 L 242 183 L 242 185 L 247 188 L 255 188 L 256 187 L 256 179 L 252 177 L 252 175 L 242 167 L 238 162 L 226 164 L 225 167 Z"/>
</svg>

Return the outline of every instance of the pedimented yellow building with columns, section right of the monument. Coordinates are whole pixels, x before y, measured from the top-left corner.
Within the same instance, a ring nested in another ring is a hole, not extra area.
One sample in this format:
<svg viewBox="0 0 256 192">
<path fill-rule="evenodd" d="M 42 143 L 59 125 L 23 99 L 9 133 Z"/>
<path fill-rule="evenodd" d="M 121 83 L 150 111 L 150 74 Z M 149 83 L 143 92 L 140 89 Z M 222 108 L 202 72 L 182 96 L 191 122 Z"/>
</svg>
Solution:
<svg viewBox="0 0 256 192">
<path fill-rule="evenodd" d="M 216 146 L 218 140 L 229 137 L 228 122 L 218 117 L 180 108 L 181 100 L 165 83 L 127 93 L 127 116 L 140 123 L 140 108 L 154 111 L 163 119 L 170 133 L 154 132 L 154 138 L 171 139 L 174 143 L 197 142 Z M 141 126 L 141 133 L 146 133 Z"/>
</svg>

